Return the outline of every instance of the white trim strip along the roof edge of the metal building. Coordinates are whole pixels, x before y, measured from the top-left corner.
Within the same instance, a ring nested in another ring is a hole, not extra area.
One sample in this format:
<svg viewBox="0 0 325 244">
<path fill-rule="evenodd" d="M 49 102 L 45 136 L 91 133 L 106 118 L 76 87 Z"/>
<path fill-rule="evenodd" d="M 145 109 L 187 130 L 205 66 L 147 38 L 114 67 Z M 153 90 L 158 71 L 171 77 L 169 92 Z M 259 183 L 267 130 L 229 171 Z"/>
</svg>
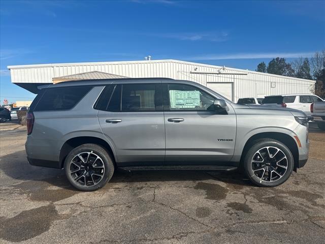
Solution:
<svg viewBox="0 0 325 244">
<path fill-rule="evenodd" d="M 26 69 L 26 68 L 41 68 L 41 67 L 63 67 L 63 66 L 87 66 L 87 65 L 118 65 L 118 64 L 153 64 L 153 63 L 178 63 L 178 64 L 184 64 L 184 65 L 194 65 L 197 67 L 209 67 L 209 68 L 216 68 L 216 69 L 222 69 L 223 66 L 215 66 L 215 65 L 206 65 L 206 64 L 200 64 L 200 63 L 193 63 L 193 62 L 187 62 L 182 60 L 175 60 L 175 59 L 157 59 L 157 60 L 134 60 L 134 61 L 119 61 L 119 62 L 92 62 L 92 63 L 60 63 L 60 64 L 42 64 L 42 65 L 16 65 L 16 66 L 8 66 L 8 69 Z M 229 68 L 225 67 L 228 71 L 235 71 L 235 72 L 245 72 L 245 73 L 251 73 L 251 74 L 259 74 L 259 75 L 265 75 L 270 77 L 279 77 L 279 78 L 287 78 L 287 79 L 293 79 L 293 80 L 300 80 L 300 81 L 308 81 L 315 83 L 314 80 L 307 80 L 307 79 L 300 79 L 295 77 L 288 77 L 288 76 L 282 76 L 282 75 L 274 75 L 269 73 L 262 73 L 262 72 L 256 72 L 251 70 L 242 70 L 242 69 L 235 69 L 235 68 Z"/>
</svg>

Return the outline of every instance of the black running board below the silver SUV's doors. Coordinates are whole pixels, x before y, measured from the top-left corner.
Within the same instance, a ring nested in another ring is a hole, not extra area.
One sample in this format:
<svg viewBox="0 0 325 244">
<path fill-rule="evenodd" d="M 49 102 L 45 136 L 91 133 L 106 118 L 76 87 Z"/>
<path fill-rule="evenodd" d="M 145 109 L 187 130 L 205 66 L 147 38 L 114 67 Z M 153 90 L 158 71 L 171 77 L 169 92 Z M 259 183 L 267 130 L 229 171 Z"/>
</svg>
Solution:
<svg viewBox="0 0 325 244">
<path fill-rule="evenodd" d="M 158 165 L 158 166 L 127 166 L 118 167 L 118 169 L 127 171 L 151 171 L 151 170 L 193 170 L 193 171 L 233 171 L 237 167 L 234 166 L 218 166 L 218 165 Z"/>
</svg>

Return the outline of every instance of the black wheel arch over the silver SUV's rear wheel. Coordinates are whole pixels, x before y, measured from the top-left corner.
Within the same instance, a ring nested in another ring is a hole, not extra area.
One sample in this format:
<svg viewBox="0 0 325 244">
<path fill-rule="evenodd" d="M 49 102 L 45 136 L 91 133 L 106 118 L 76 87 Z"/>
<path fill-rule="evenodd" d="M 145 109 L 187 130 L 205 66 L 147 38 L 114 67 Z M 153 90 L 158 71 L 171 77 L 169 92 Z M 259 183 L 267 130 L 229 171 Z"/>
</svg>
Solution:
<svg viewBox="0 0 325 244">
<path fill-rule="evenodd" d="M 113 157 L 113 163 L 114 163 L 114 166 L 116 166 L 116 157 L 115 157 L 115 153 L 114 153 L 114 148 L 107 141 L 105 141 L 104 139 L 99 138 L 99 137 L 77 136 L 77 137 L 70 138 L 69 140 L 64 142 L 60 149 L 59 165 L 60 165 L 61 169 L 63 168 L 64 160 L 66 159 L 66 157 L 68 156 L 70 151 L 73 148 L 76 148 L 77 146 L 80 146 L 80 145 L 86 144 L 86 143 L 98 144 L 98 145 L 104 147 L 108 151 L 108 153 Z"/>
</svg>

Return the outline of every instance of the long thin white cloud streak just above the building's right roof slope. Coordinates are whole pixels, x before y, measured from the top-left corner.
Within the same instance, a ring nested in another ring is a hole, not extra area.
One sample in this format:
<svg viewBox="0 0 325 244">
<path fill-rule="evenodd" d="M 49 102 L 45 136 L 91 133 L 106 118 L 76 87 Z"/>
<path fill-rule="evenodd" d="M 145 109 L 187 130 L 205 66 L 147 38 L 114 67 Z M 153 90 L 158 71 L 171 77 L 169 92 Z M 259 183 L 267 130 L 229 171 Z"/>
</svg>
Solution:
<svg viewBox="0 0 325 244">
<path fill-rule="evenodd" d="M 254 58 L 296 58 L 311 57 L 315 52 L 270 52 L 270 53 L 233 53 L 233 54 L 203 54 L 183 57 L 187 60 L 219 60 L 219 59 L 254 59 Z"/>
</svg>

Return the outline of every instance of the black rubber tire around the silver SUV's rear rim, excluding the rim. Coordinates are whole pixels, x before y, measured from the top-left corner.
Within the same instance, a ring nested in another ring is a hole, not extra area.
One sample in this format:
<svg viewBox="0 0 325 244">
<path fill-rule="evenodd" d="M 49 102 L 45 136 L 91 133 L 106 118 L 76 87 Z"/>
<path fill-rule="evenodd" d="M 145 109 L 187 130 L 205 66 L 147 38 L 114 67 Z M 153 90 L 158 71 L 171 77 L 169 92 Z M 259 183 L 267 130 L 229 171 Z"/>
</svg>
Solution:
<svg viewBox="0 0 325 244">
<path fill-rule="evenodd" d="M 80 153 L 84 153 L 84 152 L 90 152 L 92 151 L 92 153 L 98 155 L 104 163 L 104 167 L 105 167 L 105 172 L 104 172 L 104 177 L 102 178 L 102 180 L 96 184 L 95 186 L 81 186 L 79 185 L 72 177 L 72 175 L 70 174 L 70 162 L 74 159 L 74 157 L 76 157 L 76 155 L 80 154 Z M 84 144 L 81 146 L 78 146 L 76 148 L 74 148 L 69 155 L 67 156 L 66 160 L 64 161 L 64 170 L 66 172 L 66 176 L 70 182 L 70 184 L 77 188 L 80 191 L 95 191 L 99 188 L 102 188 L 106 185 L 107 181 L 112 177 L 113 172 L 114 172 L 114 165 L 113 162 L 109 156 L 109 154 L 107 153 L 107 151 L 102 148 L 101 146 L 98 145 L 91 145 L 91 144 Z"/>
</svg>

